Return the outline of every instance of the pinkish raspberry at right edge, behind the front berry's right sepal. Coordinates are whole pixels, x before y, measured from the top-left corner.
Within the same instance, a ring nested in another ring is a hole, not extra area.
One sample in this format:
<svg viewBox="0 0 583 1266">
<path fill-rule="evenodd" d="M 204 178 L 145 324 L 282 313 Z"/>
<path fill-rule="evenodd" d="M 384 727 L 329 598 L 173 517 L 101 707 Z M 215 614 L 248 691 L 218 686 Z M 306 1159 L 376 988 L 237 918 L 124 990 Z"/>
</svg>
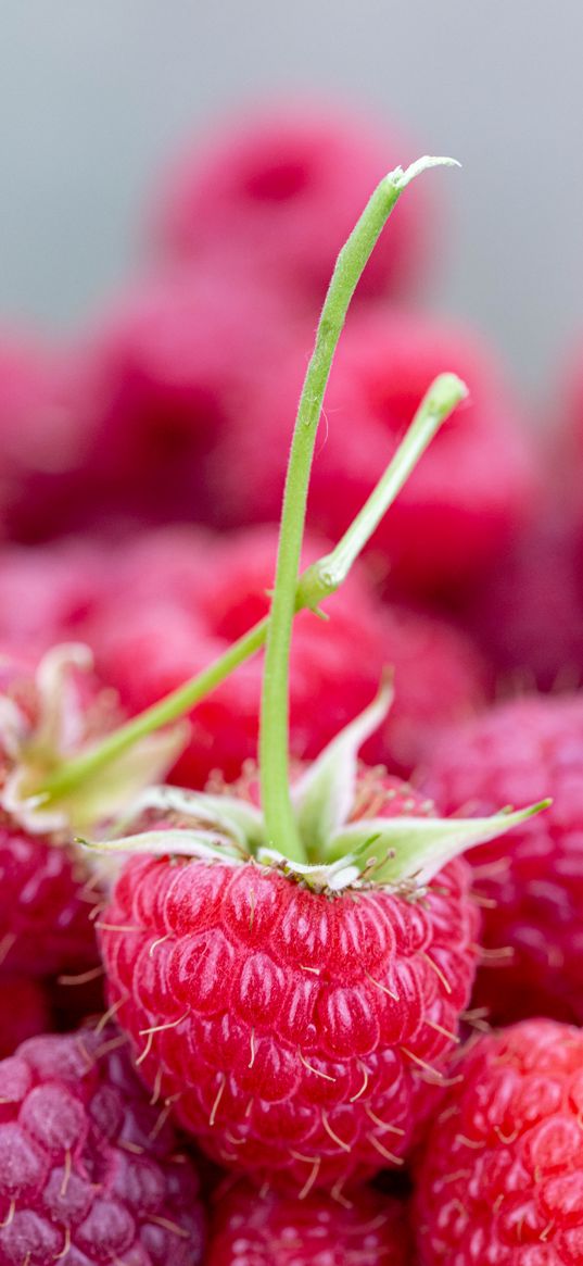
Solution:
<svg viewBox="0 0 583 1266">
<path fill-rule="evenodd" d="M 535 787 L 546 813 L 472 851 L 484 900 L 487 958 L 477 1000 L 500 1020 L 583 1020 L 583 696 L 532 696 L 444 734 L 422 786 L 445 813 L 522 805 Z"/>
</svg>

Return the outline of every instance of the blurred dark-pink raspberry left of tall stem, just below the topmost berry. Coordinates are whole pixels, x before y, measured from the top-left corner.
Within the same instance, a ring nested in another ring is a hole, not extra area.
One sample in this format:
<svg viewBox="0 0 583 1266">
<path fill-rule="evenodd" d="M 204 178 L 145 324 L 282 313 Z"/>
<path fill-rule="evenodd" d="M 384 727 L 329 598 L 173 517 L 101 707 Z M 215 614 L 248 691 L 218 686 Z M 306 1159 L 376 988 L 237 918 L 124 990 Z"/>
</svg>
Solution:
<svg viewBox="0 0 583 1266">
<path fill-rule="evenodd" d="M 119 301 L 87 337 L 77 384 L 107 513 L 209 518 L 206 454 L 287 338 L 283 301 L 226 267 L 164 273 Z"/>
</svg>

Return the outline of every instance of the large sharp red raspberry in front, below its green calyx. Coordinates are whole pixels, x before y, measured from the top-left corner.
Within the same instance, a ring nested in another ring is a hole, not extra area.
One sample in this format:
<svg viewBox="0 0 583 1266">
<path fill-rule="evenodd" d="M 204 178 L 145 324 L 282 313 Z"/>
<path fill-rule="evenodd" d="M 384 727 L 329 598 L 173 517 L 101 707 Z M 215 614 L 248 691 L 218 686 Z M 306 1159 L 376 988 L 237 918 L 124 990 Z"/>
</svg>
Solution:
<svg viewBox="0 0 583 1266">
<path fill-rule="evenodd" d="M 357 818 L 430 812 L 360 774 Z M 100 927 L 144 1079 L 258 1181 L 338 1191 L 402 1163 L 472 985 L 468 874 L 449 863 L 421 901 L 374 885 L 331 898 L 254 861 L 133 858 Z"/>
</svg>

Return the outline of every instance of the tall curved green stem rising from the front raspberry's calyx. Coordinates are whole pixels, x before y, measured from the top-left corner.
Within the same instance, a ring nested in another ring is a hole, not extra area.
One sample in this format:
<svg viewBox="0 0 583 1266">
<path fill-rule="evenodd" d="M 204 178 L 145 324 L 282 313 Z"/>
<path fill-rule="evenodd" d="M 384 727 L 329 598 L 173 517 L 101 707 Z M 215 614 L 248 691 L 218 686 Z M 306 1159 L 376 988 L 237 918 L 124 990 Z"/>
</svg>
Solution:
<svg viewBox="0 0 583 1266">
<path fill-rule="evenodd" d="M 405 172 L 400 167 L 390 172 L 374 190 L 338 257 L 300 398 L 283 492 L 259 728 L 266 837 L 271 847 L 277 848 L 291 861 L 307 861 L 290 795 L 288 676 L 307 487 L 324 392 L 350 300 L 393 206 L 415 176 L 440 163 L 450 165 L 451 160 L 420 158 Z"/>
</svg>

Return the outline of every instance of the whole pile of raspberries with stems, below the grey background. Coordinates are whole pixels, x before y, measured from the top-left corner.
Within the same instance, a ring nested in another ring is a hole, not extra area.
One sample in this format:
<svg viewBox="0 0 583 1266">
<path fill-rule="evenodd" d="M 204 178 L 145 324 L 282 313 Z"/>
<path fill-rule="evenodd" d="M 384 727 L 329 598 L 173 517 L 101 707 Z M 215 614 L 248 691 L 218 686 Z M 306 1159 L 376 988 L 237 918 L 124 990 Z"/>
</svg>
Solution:
<svg viewBox="0 0 583 1266">
<path fill-rule="evenodd" d="M 0 335 L 0 1266 L 583 1261 L 583 361 L 419 314 L 402 156 L 264 109 Z"/>
</svg>

